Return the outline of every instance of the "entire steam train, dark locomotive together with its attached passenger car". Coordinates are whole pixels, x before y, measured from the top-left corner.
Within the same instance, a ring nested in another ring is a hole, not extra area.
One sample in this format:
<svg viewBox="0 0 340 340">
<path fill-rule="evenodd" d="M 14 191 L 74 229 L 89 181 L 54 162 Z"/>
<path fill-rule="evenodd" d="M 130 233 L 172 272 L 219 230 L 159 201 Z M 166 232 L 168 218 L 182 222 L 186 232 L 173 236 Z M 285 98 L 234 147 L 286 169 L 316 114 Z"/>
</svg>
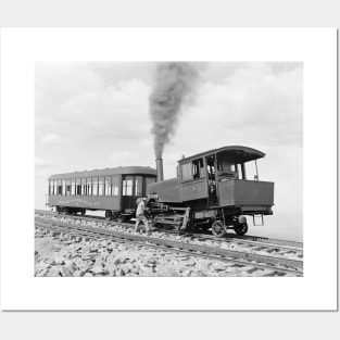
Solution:
<svg viewBox="0 0 340 340">
<path fill-rule="evenodd" d="M 108 218 L 130 219 L 140 198 L 154 227 L 248 231 L 245 216 L 263 224 L 273 214 L 274 182 L 247 179 L 247 165 L 264 158 L 259 150 L 232 146 L 178 161 L 177 177 L 164 180 L 163 160 L 156 169 L 141 166 L 54 175 L 49 178 L 48 205 L 59 212 L 104 210 Z"/>
</svg>

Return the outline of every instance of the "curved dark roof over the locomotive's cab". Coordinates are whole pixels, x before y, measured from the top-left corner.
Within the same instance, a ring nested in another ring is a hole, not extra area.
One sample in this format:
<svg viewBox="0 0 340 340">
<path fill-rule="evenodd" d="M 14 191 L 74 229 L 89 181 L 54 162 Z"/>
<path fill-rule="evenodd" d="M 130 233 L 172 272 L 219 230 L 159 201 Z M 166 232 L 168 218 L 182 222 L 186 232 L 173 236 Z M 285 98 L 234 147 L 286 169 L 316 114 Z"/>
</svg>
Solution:
<svg viewBox="0 0 340 340">
<path fill-rule="evenodd" d="M 230 147 L 222 147 L 218 149 L 213 149 L 213 150 L 209 150 L 205 152 L 197 153 L 194 155 L 190 155 L 188 158 L 184 158 L 179 160 L 178 163 L 181 164 L 188 161 L 192 161 L 192 160 L 200 159 L 203 156 L 210 156 L 210 155 L 217 154 L 217 153 L 219 154 L 223 153 L 228 159 L 235 162 L 239 162 L 239 163 L 254 161 L 254 160 L 259 160 L 265 156 L 265 153 L 259 150 L 252 149 L 252 148 L 241 147 L 241 146 L 230 146 Z"/>
</svg>

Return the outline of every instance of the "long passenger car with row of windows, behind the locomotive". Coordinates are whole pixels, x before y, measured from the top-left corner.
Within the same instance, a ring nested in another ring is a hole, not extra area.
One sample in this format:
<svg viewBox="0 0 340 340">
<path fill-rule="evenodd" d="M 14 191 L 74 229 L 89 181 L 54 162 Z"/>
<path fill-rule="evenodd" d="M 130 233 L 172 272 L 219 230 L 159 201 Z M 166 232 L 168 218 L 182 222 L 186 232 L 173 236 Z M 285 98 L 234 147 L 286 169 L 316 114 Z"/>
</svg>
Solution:
<svg viewBox="0 0 340 340">
<path fill-rule="evenodd" d="M 60 213 L 85 214 L 91 210 L 105 211 L 108 218 L 130 218 L 137 199 L 146 197 L 148 185 L 155 179 L 155 169 L 143 166 L 53 175 L 48 178 L 47 205 Z"/>
</svg>

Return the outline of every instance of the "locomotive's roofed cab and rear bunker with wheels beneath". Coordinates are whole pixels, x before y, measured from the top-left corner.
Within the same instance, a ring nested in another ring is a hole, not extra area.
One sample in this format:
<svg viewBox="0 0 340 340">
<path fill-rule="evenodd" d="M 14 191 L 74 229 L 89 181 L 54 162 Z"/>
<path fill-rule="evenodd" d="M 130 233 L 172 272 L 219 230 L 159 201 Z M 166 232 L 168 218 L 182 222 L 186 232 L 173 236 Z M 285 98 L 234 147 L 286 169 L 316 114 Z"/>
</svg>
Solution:
<svg viewBox="0 0 340 340">
<path fill-rule="evenodd" d="M 244 215 L 255 224 L 255 216 L 273 214 L 274 184 L 260 181 L 257 174 L 256 161 L 264 155 L 251 148 L 224 147 L 180 160 L 182 201 L 190 202 L 196 219 L 217 221 L 222 235 L 227 228 L 245 234 Z M 247 178 L 250 162 L 255 163 L 254 179 Z"/>
</svg>

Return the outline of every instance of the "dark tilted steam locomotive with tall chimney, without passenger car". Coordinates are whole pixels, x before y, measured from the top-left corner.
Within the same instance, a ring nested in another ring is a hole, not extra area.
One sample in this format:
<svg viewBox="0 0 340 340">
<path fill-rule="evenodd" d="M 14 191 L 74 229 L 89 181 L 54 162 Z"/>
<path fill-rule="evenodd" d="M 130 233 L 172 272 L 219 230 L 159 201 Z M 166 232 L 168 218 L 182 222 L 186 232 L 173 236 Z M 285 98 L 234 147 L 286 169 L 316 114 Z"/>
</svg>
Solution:
<svg viewBox="0 0 340 340">
<path fill-rule="evenodd" d="M 158 181 L 147 188 L 154 226 L 178 229 L 212 229 L 222 237 L 227 229 L 248 231 L 245 216 L 263 224 L 273 214 L 274 182 L 247 178 L 247 166 L 265 154 L 232 146 L 202 152 L 178 161 L 177 177 L 163 180 L 163 163 L 156 160 Z"/>
</svg>

